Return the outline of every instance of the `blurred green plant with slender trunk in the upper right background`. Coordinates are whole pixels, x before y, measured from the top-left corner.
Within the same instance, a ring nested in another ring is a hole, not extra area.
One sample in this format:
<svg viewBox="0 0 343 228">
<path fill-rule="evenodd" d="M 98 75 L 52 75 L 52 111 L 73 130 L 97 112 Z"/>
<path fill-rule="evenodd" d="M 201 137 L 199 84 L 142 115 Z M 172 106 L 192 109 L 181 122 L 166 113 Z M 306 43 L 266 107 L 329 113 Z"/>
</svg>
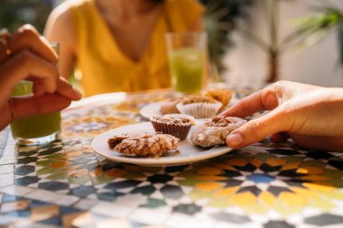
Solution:
<svg viewBox="0 0 343 228">
<path fill-rule="evenodd" d="M 321 0 L 320 3 L 325 2 L 326 5 L 314 7 L 319 12 L 318 14 L 296 20 L 295 30 L 280 40 L 278 34 L 281 1 L 285 0 L 256 0 L 262 5 L 264 15 L 266 15 L 269 41 L 264 41 L 250 31 L 239 29 L 268 55 L 269 70 L 266 81 L 274 82 L 279 78 L 280 59 L 286 50 L 294 46 L 309 47 L 332 31 L 338 32 L 339 62 L 343 66 L 343 12 L 339 10 L 338 6 Z"/>
</svg>

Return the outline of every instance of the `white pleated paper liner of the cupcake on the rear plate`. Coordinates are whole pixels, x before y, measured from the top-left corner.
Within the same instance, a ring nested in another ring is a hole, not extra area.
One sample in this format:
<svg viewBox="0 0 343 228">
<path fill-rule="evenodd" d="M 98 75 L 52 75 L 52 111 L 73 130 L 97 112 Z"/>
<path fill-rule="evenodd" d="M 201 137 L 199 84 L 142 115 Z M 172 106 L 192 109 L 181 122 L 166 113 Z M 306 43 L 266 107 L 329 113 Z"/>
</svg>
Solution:
<svg viewBox="0 0 343 228">
<path fill-rule="evenodd" d="M 178 104 L 176 107 L 179 109 L 181 114 L 190 114 L 196 119 L 203 119 L 215 116 L 221 107 L 221 103 Z"/>
</svg>

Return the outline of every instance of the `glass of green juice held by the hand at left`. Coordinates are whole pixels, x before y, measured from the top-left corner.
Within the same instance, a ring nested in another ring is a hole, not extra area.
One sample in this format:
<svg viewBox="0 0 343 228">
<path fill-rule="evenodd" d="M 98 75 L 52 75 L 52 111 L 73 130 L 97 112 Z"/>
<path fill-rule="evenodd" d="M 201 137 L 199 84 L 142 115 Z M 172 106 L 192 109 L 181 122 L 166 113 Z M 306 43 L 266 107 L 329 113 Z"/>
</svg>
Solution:
<svg viewBox="0 0 343 228">
<path fill-rule="evenodd" d="M 51 43 L 58 52 L 58 43 Z M 32 96 L 32 82 L 21 81 L 12 92 L 12 96 L 25 99 Z M 53 105 L 53 104 L 51 104 Z M 14 140 L 18 144 L 36 145 L 56 140 L 60 135 L 60 112 L 51 114 L 32 115 L 11 123 Z"/>
</svg>

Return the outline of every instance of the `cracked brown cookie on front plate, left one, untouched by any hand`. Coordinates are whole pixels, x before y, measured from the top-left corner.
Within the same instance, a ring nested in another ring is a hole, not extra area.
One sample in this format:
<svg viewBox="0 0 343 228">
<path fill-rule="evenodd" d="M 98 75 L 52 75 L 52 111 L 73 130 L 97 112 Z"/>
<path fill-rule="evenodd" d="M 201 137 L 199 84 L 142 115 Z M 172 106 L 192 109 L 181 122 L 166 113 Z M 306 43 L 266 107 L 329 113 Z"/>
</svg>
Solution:
<svg viewBox="0 0 343 228">
<path fill-rule="evenodd" d="M 107 141 L 111 150 L 129 156 L 160 157 L 169 150 L 176 150 L 179 139 L 169 134 L 127 133 Z"/>
</svg>

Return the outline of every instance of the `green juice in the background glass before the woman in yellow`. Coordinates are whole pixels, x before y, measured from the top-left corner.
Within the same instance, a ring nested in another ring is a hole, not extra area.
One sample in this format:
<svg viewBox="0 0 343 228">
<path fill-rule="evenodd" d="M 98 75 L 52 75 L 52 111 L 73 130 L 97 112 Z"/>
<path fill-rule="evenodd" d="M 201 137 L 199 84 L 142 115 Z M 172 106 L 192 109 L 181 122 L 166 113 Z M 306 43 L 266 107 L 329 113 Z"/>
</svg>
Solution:
<svg viewBox="0 0 343 228">
<path fill-rule="evenodd" d="M 185 94 L 197 94 L 203 87 L 205 51 L 195 48 L 172 50 L 169 53 L 172 87 Z"/>
</svg>

